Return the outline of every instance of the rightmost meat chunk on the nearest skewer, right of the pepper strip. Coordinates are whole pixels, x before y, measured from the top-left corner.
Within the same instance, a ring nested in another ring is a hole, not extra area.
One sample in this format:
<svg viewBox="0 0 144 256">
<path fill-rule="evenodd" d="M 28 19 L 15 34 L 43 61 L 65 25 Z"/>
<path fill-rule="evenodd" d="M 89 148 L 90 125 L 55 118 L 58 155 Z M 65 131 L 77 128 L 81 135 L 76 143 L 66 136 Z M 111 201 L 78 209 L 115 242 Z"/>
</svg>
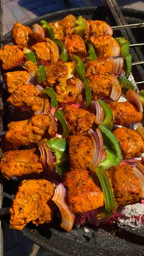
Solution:
<svg viewBox="0 0 144 256">
<path fill-rule="evenodd" d="M 142 199 L 142 188 L 129 164 L 111 167 L 106 171 L 113 188 L 117 207 L 138 203 Z"/>
</svg>

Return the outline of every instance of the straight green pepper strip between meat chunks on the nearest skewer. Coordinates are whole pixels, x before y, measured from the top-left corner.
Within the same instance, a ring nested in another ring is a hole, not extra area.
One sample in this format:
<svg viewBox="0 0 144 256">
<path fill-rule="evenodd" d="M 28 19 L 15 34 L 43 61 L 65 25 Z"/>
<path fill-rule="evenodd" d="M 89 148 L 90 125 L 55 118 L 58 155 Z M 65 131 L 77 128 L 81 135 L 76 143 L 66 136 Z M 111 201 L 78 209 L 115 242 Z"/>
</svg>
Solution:
<svg viewBox="0 0 144 256">
<path fill-rule="evenodd" d="M 115 196 L 112 191 L 112 187 L 110 186 L 110 182 L 106 175 L 106 170 L 103 167 L 95 167 L 96 175 L 98 176 L 99 182 L 101 184 L 101 188 L 104 193 L 104 202 L 106 211 L 114 211 L 116 210 Z M 103 217 L 104 218 L 104 217 Z"/>
</svg>

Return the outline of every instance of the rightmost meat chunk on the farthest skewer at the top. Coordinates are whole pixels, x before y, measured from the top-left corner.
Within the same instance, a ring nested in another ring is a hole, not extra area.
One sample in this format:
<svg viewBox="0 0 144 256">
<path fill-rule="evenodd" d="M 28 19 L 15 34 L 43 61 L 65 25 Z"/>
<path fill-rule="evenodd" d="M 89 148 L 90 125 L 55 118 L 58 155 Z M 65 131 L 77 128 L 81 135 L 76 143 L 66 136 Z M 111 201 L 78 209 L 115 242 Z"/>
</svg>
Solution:
<svg viewBox="0 0 144 256">
<path fill-rule="evenodd" d="M 97 37 L 98 35 L 110 35 L 112 36 L 113 31 L 111 27 L 101 20 L 86 20 L 87 26 L 85 37 L 89 40 L 90 37 Z"/>
</svg>

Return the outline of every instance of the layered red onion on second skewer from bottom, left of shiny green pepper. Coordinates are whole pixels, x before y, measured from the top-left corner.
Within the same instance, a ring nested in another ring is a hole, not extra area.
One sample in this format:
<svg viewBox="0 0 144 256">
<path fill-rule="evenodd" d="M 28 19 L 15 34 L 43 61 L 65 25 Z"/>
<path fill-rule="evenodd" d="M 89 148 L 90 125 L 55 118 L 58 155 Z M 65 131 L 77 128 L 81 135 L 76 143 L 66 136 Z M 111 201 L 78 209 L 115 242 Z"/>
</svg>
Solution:
<svg viewBox="0 0 144 256">
<path fill-rule="evenodd" d="M 46 144 L 47 139 L 43 139 L 38 143 L 38 149 L 40 150 L 40 163 L 45 168 L 46 171 L 52 172 L 54 168 L 54 157 Z"/>
</svg>

